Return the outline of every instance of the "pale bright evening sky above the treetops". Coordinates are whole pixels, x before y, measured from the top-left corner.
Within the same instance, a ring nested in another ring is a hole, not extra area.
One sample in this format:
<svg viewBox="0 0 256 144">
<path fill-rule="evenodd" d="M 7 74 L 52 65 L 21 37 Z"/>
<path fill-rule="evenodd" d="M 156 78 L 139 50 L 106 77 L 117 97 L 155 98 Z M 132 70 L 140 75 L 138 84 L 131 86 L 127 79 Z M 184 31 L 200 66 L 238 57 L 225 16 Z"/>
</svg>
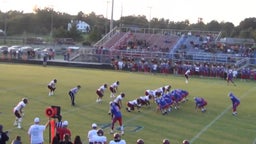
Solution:
<svg viewBox="0 0 256 144">
<path fill-rule="evenodd" d="M 197 23 L 202 18 L 204 23 L 212 20 L 232 22 L 239 25 L 245 18 L 256 17 L 255 0 L 113 0 L 113 19 L 121 16 L 144 15 L 148 20 L 164 18 L 179 22 L 189 20 Z M 111 18 L 112 0 L 0 0 L 0 10 L 33 12 L 33 8 L 51 7 L 54 11 L 76 15 L 94 12 Z"/>
</svg>

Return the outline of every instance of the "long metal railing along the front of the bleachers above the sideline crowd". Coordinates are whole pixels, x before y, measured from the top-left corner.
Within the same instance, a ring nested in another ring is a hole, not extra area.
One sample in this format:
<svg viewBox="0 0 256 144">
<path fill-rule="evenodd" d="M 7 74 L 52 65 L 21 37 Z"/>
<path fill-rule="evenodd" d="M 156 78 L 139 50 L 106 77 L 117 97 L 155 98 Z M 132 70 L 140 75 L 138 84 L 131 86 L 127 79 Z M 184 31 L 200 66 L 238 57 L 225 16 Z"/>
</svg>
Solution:
<svg viewBox="0 0 256 144">
<path fill-rule="evenodd" d="M 254 58 L 244 58 L 225 54 L 206 54 L 206 53 L 164 53 L 164 52 L 152 52 L 152 51 L 137 51 L 137 50 L 109 50 L 109 49 L 96 49 L 85 48 L 80 49 L 80 57 L 77 57 L 75 61 L 82 62 L 99 62 L 99 63 L 111 63 L 113 59 L 134 59 L 141 60 L 142 58 L 151 61 L 156 60 L 169 60 L 172 62 L 184 62 L 184 63 L 221 63 L 231 64 L 238 68 L 244 65 L 256 66 L 256 60 Z"/>
</svg>

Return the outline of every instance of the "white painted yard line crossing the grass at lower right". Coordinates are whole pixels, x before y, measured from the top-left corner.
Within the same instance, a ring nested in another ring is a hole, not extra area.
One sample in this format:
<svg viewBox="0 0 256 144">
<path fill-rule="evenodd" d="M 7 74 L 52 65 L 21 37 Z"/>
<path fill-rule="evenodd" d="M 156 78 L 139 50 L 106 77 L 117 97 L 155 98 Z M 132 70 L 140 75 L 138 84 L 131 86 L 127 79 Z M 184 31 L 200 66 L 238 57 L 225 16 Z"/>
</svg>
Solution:
<svg viewBox="0 0 256 144">
<path fill-rule="evenodd" d="M 255 90 L 256 87 L 251 88 L 250 90 L 248 90 L 245 94 L 243 94 L 240 99 L 244 98 L 245 96 L 247 96 L 249 93 L 253 92 Z M 203 129 L 201 129 L 201 131 L 199 133 L 197 133 L 191 140 L 190 143 L 192 144 L 195 140 L 197 140 L 201 134 L 203 134 L 208 128 L 210 128 L 217 120 L 219 120 L 232 106 L 229 105 L 224 111 L 222 111 L 215 119 L 213 119 L 208 125 L 206 125 Z M 256 144 L 256 138 L 254 140 L 254 143 Z"/>
</svg>

